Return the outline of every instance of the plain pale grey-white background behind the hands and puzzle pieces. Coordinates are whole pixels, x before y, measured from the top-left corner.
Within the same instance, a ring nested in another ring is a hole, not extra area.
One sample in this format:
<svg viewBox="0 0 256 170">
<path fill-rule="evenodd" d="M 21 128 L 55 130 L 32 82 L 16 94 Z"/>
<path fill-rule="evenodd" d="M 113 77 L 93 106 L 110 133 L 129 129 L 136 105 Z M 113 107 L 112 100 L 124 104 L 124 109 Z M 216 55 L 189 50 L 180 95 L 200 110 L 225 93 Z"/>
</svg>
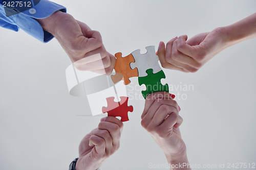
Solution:
<svg viewBox="0 0 256 170">
<path fill-rule="evenodd" d="M 256 1 L 55 0 L 101 33 L 106 49 L 123 56 L 174 36 L 208 32 L 255 12 Z M 68 169 L 84 135 L 100 116 L 86 98 L 69 95 L 71 64 L 56 39 L 43 44 L 23 31 L 0 28 L 0 169 Z M 231 46 L 195 74 L 164 69 L 169 85 L 193 85 L 181 107 L 190 164 L 256 163 L 256 39 Z M 137 78 L 131 79 L 136 86 Z M 129 87 L 130 88 L 130 87 Z M 134 93 L 136 91 L 133 91 Z M 140 91 L 137 91 L 140 93 Z M 185 95 L 183 95 L 185 96 Z M 140 126 L 143 100 L 124 123 L 120 149 L 101 169 L 148 169 L 164 154 Z"/>
</svg>

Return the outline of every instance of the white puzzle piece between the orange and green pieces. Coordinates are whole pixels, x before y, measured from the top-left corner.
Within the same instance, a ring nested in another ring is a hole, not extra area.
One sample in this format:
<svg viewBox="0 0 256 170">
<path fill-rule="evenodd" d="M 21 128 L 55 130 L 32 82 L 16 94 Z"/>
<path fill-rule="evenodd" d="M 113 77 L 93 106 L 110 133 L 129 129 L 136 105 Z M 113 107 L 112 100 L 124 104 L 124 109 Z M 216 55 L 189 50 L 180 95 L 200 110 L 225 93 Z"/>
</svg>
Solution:
<svg viewBox="0 0 256 170">
<path fill-rule="evenodd" d="M 155 46 L 145 47 L 147 52 L 145 54 L 140 54 L 140 50 L 132 52 L 135 62 L 130 63 L 131 68 L 138 69 L 139 77 L 147 76 L 146 70 L 152 68 L 153 73 L 161 71 L 161 67 L 158 64 L 159 58 L 155 52 Z"/>
</svg>

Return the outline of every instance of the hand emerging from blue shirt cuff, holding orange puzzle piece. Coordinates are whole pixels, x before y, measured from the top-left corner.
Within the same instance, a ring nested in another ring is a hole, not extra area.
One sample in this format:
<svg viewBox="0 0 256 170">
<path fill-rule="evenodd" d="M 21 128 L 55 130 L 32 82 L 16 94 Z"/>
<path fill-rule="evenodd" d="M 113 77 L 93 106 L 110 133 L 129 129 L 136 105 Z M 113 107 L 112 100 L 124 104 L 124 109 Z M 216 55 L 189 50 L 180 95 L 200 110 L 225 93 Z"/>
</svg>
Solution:
<svg viewBox="0 0 256 170">
<path fill-rule="evenodd" d="M 60 11 L 37 21 L 59 41 L 77 69 L 107 75 L 112 73 L 115 57 L 105 50 L 99 32 Z M 90 57 L 95 54 L 100 54 L 100 57 Z"/>
</svg>

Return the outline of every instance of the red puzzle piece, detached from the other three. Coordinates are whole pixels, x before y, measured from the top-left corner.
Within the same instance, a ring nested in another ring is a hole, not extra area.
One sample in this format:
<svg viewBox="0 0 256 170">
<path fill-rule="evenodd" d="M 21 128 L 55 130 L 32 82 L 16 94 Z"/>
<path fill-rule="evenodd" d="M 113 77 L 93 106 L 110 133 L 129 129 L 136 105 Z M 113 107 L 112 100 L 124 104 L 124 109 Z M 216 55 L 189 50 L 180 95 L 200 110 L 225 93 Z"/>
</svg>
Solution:
<svg viewBox="0 0 256 170">
<path fill-rule="evenodd" d="M 120 116 L 122 122 L 128 121 L 128 111 L 133 112 L 133 106 L 127 106 L 129 98 L 121 96 L 121 102 L 115 102 L 114 99 L 106 98 L 108 107 L 102 107 L 102 113 L 108 112 L 108 116 Z"/>
</svg>

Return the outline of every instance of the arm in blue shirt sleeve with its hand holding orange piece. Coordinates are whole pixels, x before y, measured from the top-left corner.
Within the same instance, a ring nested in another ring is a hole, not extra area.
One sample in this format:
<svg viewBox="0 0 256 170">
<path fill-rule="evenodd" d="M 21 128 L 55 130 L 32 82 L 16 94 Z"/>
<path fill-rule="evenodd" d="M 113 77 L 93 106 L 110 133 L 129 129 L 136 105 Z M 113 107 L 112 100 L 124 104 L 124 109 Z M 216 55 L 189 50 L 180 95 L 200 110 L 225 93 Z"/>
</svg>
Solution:
<svg viewBox="0 0 256 170">
<path fill-rule="evenodd" d="M 77 69 L 111 74 L 115 57 L 105 50 L 99 32 L 65 13 L 65 7 L 48 0 L 41 0 L 33 9 L 35 13 L 27 10 L 7 17 L 0 4 L 0 26 L 13 31 L 20 28 L 42 42 L 55 36 Z M 90 57 L 94 54 L 100 57 Z"/>
</svg>

